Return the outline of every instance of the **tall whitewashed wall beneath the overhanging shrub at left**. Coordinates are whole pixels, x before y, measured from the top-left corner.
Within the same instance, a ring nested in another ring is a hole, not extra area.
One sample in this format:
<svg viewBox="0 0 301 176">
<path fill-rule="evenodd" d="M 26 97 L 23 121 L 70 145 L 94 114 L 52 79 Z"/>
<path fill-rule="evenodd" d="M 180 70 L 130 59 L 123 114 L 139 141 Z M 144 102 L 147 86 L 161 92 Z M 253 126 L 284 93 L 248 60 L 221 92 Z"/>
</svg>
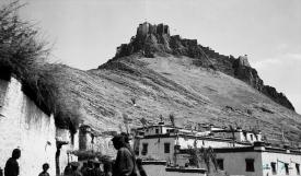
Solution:
<svg viewBox="0 0 301 176">
<path fill-rule="evenodd" d="M 21 150 L 20 176 L 34 176 L 48 163 L 55 175 L 56 126 L 53 116 L 45 115 L 22 92 L 21 83 L 11 78 L 0 80 L 0 167 L 11 157 L 13 149 Z"/>
</svg>

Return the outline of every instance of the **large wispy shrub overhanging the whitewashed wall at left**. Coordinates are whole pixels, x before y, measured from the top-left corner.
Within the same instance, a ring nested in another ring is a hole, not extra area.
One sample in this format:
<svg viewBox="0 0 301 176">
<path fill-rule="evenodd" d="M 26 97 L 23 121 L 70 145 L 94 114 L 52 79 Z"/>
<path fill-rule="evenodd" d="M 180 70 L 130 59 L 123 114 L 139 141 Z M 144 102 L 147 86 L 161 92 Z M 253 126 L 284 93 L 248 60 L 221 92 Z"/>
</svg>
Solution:
<svg viewBox="0 0 301 176">
<path fill-rule="evenodd" d="M 76 131 L 79 113 L 69 108 L 60 93 L 58 77 L 61 64 L 47 63 L 51 45 L 42 39 L 39 30 L 32 22 L 22 19 L 18 10 L 26 4 L 19 0 L 0 9 L 0 70 L 1 75 L 13 75 L 22 83 L 23 92 L 36 105 L 50 115 L 54 113 L 56 125 Z M 70 104 L 70 103 L 69 103 Z M 78 104 L 72 102 L 71 104 Z"/>
</svg>

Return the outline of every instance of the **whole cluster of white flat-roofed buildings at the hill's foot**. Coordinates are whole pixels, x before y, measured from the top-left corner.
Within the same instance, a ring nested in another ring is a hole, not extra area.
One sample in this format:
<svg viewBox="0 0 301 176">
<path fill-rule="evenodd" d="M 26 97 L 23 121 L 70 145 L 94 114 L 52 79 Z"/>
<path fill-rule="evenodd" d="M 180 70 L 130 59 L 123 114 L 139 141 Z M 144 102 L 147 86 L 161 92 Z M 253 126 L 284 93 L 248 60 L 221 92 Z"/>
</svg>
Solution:
<svg viewBox="0 0 301 176">
<path fill-rule="evenodd" d="M 300 175 L 301 148 L 271 146 L 262 141 L 259 131 L 230 130 L 212 125 L 198 125 L 197 130 L 187 130 L 159 122 L 132 129 L 132 133 L 138 156 L 161 157 L 169 162 L 173 161 L 176 151 L 176 163 L 182 168 L 189 163 L 189 149 L 196 144 L 198 149 L 211 146 L 217 154 L 219 169 L 229 175 Z"/>
</svg>

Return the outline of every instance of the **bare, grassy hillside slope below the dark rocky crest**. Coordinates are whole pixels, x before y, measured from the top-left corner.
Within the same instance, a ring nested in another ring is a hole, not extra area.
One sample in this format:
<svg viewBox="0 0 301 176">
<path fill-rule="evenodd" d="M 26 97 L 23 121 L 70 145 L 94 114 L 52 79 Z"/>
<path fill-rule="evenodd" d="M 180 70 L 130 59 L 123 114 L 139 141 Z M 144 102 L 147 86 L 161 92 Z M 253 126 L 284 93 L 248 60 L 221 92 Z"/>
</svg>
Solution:
<svg viewBox="0 0 301 176">
<path fill-rule="evenodd" d="M 124 129 L 123 114 L 130 126 L 140 126 L 142 117 L 159 121 L 160 115 L 169 121 L 174 114 L 180 126 L 257 126 L 273 139 L 280 139 L 283 127 L 286 138 L 297 141 L 301 136 L 300 115 L 241 80 L 196 67 L 185 56 L 135 54 L 90 71 L 63 66 L 58 79 L 65 96 L 80 102 L 83 124 L 100 132 Z"/>
</svg>

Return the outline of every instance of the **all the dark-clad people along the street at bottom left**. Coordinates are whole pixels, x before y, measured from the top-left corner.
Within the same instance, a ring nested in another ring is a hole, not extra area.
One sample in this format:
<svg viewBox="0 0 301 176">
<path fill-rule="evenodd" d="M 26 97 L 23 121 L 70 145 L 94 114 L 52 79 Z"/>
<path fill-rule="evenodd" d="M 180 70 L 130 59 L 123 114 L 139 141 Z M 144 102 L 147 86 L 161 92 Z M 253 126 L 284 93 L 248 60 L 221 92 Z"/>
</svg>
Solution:
<svg viewBox="0 0 301 176">
<path fill-rule="evenodd" d="M 115 163 L 105 161 L 103 171 L 101 169 L 100 161 L 84 162 L 81 169 L 79 169 L 80 163 L 71 162 L 65 168 L 65 176 L 148 176 L 142 167 L 142 160 L 137 159 L 129 144 L 129 138 L 127 133 L 121 132 L 115 136 L 113 139 L 113 145 L 117 150 L 117 156 Z M 7 161 L 4 167 L 4 176 L 18 176 L 20 167 L 18 159 L 21 157 L 21 150 L 14 149 L 12 157 Z M 49 164 L 43 164 L 43 172 L 38 176 L 50 176 L 47 171 Z"/>
</svg>

